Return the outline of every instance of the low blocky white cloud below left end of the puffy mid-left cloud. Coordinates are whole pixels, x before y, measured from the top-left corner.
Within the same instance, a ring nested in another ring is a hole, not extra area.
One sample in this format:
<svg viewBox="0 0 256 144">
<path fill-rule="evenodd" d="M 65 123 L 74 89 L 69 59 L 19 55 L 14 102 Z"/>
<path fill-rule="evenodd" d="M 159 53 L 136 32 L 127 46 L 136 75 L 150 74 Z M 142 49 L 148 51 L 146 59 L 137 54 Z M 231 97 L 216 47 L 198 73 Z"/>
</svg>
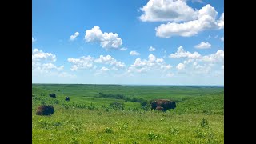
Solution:
<svg viewBox="0 0 256 144">
<path fill-rule="evenodd" d="M 82 56 L 81 58 L 68 58 L 67 61 L 73 64 L 70 69 L 72 71 L 90 69 L 94 66 L 94 58 L 90 57 L 90 55 L 87 57 Z"/>
</svg>

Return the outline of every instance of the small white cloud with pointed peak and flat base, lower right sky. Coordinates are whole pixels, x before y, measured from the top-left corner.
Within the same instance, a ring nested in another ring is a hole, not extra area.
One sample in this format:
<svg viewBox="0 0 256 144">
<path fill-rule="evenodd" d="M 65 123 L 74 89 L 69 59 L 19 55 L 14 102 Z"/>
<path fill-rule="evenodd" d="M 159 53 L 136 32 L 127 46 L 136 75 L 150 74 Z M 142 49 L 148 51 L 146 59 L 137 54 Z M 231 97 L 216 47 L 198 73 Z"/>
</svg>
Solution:
<svg viewBox="0 0 256 144">
<path fill-rule="evenodd" d="M 169 58 L 199 58 L 201 57 L 198 52 L 190 53 L 189 51 L 185 51 L 183 46 L 179 46 L 178 50 L 174 54 L 170 54 Z"/>
</svg>

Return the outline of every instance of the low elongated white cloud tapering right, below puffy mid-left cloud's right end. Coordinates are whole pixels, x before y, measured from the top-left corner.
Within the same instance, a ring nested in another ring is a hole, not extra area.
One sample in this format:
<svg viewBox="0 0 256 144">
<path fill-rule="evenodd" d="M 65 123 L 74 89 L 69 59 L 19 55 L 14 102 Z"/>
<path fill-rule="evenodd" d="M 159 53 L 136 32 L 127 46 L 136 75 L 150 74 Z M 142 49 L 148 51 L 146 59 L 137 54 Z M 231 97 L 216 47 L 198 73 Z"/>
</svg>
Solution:
<svg viewBox="0 0 256 144">
<path fill-rule="evenodd" d="M 118 68 L 125 67 L 125 63 L 118 62 L 116 59 L 112 58 L 110 55 L 100 55 L 99 58 L 95 59 L 94 62 L 96 63 L 104 63 L 104 64 L 110 64 L 111 66 L 117 66 Z"/>
</svg>

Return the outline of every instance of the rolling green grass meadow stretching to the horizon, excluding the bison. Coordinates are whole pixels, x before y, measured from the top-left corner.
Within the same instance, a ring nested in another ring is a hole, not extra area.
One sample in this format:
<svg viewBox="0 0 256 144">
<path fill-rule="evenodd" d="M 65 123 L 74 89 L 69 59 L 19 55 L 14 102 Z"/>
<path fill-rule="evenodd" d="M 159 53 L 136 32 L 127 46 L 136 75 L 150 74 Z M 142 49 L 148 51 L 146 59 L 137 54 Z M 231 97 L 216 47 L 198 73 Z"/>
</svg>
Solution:
<svg viewBox="0 0 256 144">
<path fill-rule="evenodd" d="M 177 107 L 151 111 L 158 98 Z M 224 88 L 32 84 L 32 143 L 224 143 Z"/>
</svg>

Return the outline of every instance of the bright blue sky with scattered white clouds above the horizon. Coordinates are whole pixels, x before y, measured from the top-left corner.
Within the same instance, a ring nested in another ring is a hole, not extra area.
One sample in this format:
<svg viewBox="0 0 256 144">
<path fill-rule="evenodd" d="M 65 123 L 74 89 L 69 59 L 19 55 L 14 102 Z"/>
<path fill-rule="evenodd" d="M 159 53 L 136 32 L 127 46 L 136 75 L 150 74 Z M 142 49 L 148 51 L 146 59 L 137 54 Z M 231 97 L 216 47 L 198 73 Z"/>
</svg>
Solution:
<svg viewBox="0 0 256 144">
<path fill-rule="evenodd" d="M 224 2 L 33 0 L 32 82 L 223 85 Z"/>
</svg>

